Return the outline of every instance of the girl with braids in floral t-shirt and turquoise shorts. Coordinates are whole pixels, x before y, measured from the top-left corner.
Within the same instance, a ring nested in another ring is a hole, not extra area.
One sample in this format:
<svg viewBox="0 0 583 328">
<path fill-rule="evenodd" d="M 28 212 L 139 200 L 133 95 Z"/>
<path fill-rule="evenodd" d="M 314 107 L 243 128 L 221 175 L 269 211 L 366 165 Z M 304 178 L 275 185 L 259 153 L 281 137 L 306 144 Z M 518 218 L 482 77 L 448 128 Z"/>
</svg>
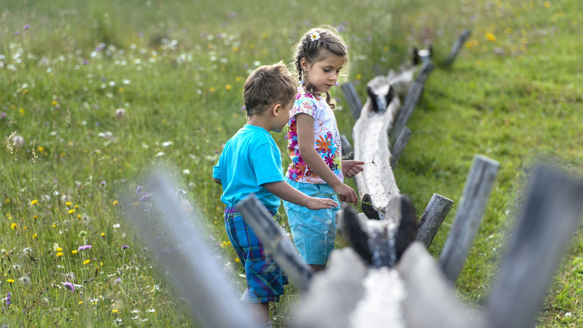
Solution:
<svg viewBox="0 0 583 328">
<path fill-rule="evenodd" d="M 360 165 L 364 162 L 341 159 L 340 134 L 332 111 L 336 103 L 329 93 L 340 70 L 347 70 L 346 45 L 335 29 L 319 27 L 304 34 L 294 49 L 300 87 L 287 125 L 291 164 L 286 181 L 308 196 L 338 193 L 340 200 L 356 206 L 356 192 L 343 178 L 363 171 Z M 338 202 L 338 196 L 332 197 Z M 315 271 L 324 269 L 334 248 L 339 207 L 310 210 L 286 201 L 283 207 L 301 256 Z"/>
</svg>

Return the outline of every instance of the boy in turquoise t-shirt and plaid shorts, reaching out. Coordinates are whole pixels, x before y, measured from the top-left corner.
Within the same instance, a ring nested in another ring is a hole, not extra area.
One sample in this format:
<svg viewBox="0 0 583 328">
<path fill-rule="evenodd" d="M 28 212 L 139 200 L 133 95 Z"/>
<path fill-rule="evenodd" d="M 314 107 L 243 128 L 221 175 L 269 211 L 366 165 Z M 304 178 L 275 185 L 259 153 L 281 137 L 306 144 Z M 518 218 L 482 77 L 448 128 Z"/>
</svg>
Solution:
<svg viewBox="0 0 583 328">
<path fill-rule="evenodd" d="M 269 131 L 286 126 L 296 93 L 282 62 L 255 69 L 243 87 L 247 124 L 227 141 L 213 167 L 213 179 L 223 187 L 227 235 L 245 266 L 251 320 L 262 327 L 271 327 L 269 302 L 279 302 L 287 279 L 235 206 L 250 193 L 274 215 L 280 199 L 312 210 L 338 206 L 332 199 L 307 196 L 283 179 L 281 153 Z"/>
</svg>

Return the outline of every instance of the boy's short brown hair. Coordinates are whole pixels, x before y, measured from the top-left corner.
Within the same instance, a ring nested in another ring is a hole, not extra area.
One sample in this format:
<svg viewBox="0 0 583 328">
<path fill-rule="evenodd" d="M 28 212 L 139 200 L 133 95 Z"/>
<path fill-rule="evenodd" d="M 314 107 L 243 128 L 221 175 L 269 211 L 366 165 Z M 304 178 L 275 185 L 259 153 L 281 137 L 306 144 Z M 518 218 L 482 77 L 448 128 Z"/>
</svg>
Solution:
<svg viewBox="0 0 583 328">
<path fill-rule="evenodd" d="M 283 62 L 259 66 L 243 87 L 247 116 L 261 114 L 273 104 L 287 105 L 296 98 L 297 86 Z"/>
</svg>

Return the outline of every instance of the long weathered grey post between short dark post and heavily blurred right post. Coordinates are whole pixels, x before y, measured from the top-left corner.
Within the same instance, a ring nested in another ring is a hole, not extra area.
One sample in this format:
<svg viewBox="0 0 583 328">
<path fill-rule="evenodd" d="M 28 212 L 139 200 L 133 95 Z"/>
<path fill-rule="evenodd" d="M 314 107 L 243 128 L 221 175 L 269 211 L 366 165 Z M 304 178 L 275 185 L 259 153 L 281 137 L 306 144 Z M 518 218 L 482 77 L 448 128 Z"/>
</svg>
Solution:
<svg viewBox="0 0 583 328">
<path fill-rule="evenodd" d="M 455 282 L 472 247 L 480 221 L 494 186 L 500 164 L 488 157 L 476 155 L 463 188 L 462 200 L 455 213 L 439 264 L 445 276 Z"/>
</svg>

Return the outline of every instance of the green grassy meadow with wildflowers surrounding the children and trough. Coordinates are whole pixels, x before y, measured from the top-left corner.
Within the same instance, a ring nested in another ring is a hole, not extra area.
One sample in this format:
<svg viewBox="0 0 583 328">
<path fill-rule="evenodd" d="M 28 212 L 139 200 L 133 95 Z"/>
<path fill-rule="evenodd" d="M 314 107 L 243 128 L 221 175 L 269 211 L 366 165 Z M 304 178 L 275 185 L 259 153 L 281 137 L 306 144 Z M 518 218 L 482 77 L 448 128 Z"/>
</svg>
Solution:
<svg viewBox="0 0 583 328">
<path fill-rule="evenodd" d="M 439 64 L 463 29 L 472 32 L 454 66 L 438 65 L 427 81 L 394 172 L 418 214 L 434 192 L 456 202 L 430 247 L 437 256 L 474 154 L 500 162 L 456 283 L 466 302 L 486 305 L 530 165 L 549 156 L 583 174 L 581 10 L 577 0 L 2 1 L 0 326 L 196 326 L 154 260 L 185 250 L 143 248 L 124 218 L 130 207 L 144 220 L 158 215 L 142 185 L 161 165 L 177 168 L 175 188 L 198 207 L 202 237 L 242 292 L 212 166 L 246 122 L 248 73 L 289 63 L 297 38 L 319 24 L 347 41 L 347 79 L 363 100 L 366 82 L 413 46 L 431 40 Z M 332 93 L 350 139 L 354 119 Z M 283 133 L 273 137 L 285 150 Z M 537 327 L 583 325 L 581 237 Z M 289 323 L 296 304 L 290 286 L 272 322 Z"/>
</svg>

